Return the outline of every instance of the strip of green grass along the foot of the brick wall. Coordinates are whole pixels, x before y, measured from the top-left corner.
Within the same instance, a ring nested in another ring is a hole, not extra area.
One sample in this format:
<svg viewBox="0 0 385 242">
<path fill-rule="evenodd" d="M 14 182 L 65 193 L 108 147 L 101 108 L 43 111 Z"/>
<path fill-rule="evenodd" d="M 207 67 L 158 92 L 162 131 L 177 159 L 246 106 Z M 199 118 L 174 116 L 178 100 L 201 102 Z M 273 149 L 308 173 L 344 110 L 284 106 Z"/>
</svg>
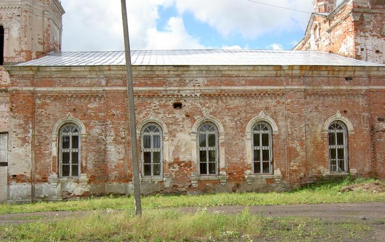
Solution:
<svg viewBox="0 0 385 242">
<path fill-rule="evenodd" d="M 296 189 L 291 192 L 270 193 L 219 193 L 204 195 L 152 195 L 143 196 L 144 208 L 169 207 L 209 207 L 222 205 L 287 205 L 321 203 L 363 203 L 385 202 L 385 193 L 345 192 L 339 193 L 343 186 L 356 183 L 370 183 L 375 179 L 352 179 L 319 183 Z M 32 213 L 44 211 L 85 211 L 85 210 L 130 210 L 134 207 L 133 198 L 101 197 L 59 202 L 40 202 L 32 204 L 2 204 L 0 214 Z"/>
</svg>

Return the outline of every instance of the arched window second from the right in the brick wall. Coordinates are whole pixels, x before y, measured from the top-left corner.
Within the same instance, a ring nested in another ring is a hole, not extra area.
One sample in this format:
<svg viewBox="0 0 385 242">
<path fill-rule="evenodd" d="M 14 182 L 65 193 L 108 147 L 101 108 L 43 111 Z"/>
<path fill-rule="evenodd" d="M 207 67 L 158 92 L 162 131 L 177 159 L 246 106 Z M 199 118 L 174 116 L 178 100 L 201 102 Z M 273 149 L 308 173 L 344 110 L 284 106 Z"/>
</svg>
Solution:
<svg viewBox="0 0 385 242">
<path fill-rule="evenodd" d="M 254 173 L 272 173 L 272 128 L 266 122 L 253 126 Z"/>
</svg>

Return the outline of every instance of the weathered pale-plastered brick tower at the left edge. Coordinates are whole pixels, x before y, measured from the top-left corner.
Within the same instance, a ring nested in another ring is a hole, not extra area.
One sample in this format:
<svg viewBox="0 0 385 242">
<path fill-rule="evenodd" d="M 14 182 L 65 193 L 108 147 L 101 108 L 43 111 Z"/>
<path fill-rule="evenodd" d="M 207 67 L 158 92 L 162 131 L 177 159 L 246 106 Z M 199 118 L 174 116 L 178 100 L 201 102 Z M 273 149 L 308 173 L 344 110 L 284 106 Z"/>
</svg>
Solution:
<svg viewBox="0 0 385 242">
<path fill-rule="evenodd" d="M 62 48 L 59 0 L 0 0 L 0 201 L 7 198 L 8 73 L 3 65 L 37 59 Z"/>
</svg>

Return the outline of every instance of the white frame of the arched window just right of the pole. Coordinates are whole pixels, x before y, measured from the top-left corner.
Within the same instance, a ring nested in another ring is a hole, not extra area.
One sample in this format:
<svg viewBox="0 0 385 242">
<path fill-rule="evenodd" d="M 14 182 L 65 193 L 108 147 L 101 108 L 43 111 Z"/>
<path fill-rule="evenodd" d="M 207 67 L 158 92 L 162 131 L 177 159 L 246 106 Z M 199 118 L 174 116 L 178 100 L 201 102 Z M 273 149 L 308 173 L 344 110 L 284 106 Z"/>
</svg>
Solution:
<svg viewBox="0 0 385 242">
<path fill-rule="evenodd" d="M 159 132 L 151 132 L 151 133 L 145 133 L 144 130 L 149 126 L 155 126 L 158 128 Z M 151 136 L 151 148 L 144 148 L 143 143 L 143 137 L 145 135 Z M 153 136 L 159 135 L 160 136 L 160 147 L 159 148 L 153 148 Z M 144 175 L 144 152 L 151 152 L 151 175 Z M 153 152 L 160 152 L 160 174 L 159 175 L 153 175 L 153 160 L 152 160 L 152 153 Z M 157 123 L 147 123 L 142 127 L 141 131 L 141 174 L 142 177 L 162 177 L 163 176 L 163 130 L 160 125 Z"/>
</svg>

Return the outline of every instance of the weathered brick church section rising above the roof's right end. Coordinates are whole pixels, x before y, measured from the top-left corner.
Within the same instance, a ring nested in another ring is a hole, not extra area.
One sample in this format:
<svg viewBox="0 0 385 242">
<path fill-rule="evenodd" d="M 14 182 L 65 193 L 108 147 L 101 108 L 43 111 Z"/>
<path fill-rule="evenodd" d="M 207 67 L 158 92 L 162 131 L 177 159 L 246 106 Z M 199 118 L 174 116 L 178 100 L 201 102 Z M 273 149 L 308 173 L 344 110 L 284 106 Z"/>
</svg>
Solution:
<svg viewBox="0 0 385 242">
<path fill-rule="evenodd" d="M 305 36 L 294 50 L 319 50 L 385 64 L 385 3 L 315 0 Z"/>
</svg>

